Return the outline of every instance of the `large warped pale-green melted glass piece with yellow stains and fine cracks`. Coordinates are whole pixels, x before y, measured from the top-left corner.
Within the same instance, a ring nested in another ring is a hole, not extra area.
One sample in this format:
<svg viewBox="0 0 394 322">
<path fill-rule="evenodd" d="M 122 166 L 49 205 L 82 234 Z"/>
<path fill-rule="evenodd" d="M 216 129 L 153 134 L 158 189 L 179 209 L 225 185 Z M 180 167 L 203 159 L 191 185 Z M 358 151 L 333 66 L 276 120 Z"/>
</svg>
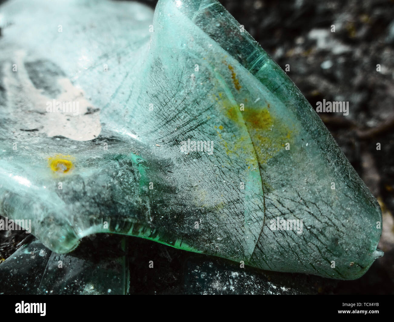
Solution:
<svg viewBox="0 0 394 322">
<path fill-rule="evenodd" d="M 216 0 L 42 5 L 2 5 L 3 217 L 60 254 L 112 232 L 337 279 L 381 256 L 377 201 Z"/>
</svg>

